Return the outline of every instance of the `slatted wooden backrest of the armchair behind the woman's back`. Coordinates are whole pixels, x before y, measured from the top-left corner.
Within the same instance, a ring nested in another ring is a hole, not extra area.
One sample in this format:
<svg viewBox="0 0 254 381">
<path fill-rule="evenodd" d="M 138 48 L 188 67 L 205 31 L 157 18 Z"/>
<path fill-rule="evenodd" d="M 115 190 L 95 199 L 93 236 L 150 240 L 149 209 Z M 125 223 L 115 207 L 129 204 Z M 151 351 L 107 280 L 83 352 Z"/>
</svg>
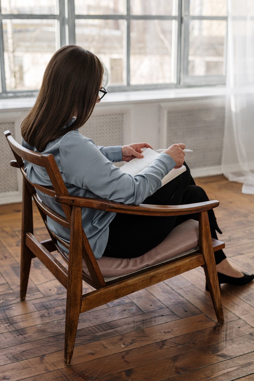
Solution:
<svg viewBox="0 0 254 381">
<path fill-rule="evenodd" d="M 14 138 L 11 136 L 10 131 L 5 131 L 5 136 L 14 154 L 14 157 L 16 159 L 16 162 L 13 163 L 13 166 L 18 166 L 19 169 L 21 170 L 21 173 L 24 178 L 24 182 L 27 185 L 26 189 L 29 189 L 31 200 L 33 197 L 35 204 L 37 205 L 38 210 L 40 212 L 40 215 L 43 218 L 45 226 L 48 229 L 50 237 L 56 246 L 56 249 L 63 256 L 65 261 L 67 261 L 67 256 L 64 255 L 64 252 L 59 248 L 57 242 L 60 242 L 65 248 L 67 248 L 67 250 L 69 250 L 70 245 L 69 243 L 65 242 L 64 240 L 56 236 L 54 232 L 50 231 L 48 227 L 48 223 L 47 223 L 47 216 L 53 219 L 54 221 L 56 221 L 57 223 L 61 224 L 62 226 L 67 227 L 68 229 L 71 229 L 72 207 L 69 205 L 64 205 L 64 204 L 61 205 L 65 214 L 65 218 L 64 218 L 58 213 L 56 213 L 55 211 L 51 210 L 47 205 L 45 205 L 45 203 L 42 202 L 42 200 L 38 197 L 36 193 L 36 189 L 38 189 L 39 191 L 45 193 L 46 195 L 49 195 L 50 197 L 69 195 L 67 188 L 64 184 L 64 181 L 62 179 L 61 173 L 59 171 L 59 168 L 54 159 L 54 156 L 52 154 L 40 154 L 40 153 L 31 151 L 29 149 L 22 147 L 21 144 L 19 144 L 18 142 L 14 140 Z M 45 168 L 50 178 L 50 181 L 52 183 L 52 187 L 45 187 L 40 184 L 33 184 L 32 182 L 30 182 L 27 179 L 26 172 L 24 171 L 24 160 Z M 23 188 L 23 197 L 24 197 L 24 188 Z M 97 261 L 94 257 L 93 251 L 89 245 L 88 239 L 86 237 L 86 234 L 83 228 L 82 228 L 82 256 L 89 271 L 89 274 L 83 272 L 83 279 L 92 287 L 95 287 L 95 288 L 104 287 L 105 280 L 101 274 L 101 270 L 97 264 Z"/>
</svg>

